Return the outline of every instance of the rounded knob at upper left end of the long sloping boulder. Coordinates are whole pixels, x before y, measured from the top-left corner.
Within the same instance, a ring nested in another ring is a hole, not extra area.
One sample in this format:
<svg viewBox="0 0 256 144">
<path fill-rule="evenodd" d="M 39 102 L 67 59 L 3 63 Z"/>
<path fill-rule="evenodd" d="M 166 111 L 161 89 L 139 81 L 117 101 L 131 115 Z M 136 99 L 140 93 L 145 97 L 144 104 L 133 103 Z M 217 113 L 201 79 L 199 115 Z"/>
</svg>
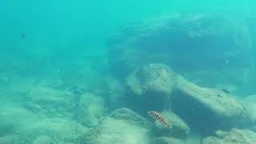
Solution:
<svg viewBox="0 0 256 144">
<path fill-rule="evenodd" d="M 151 91 L 170 95 L 178 84 L 178 77 L 169 66 L 154 63 L 134 71 L 126 78 L 126 84 L 135 94 Z"/>
</svg>

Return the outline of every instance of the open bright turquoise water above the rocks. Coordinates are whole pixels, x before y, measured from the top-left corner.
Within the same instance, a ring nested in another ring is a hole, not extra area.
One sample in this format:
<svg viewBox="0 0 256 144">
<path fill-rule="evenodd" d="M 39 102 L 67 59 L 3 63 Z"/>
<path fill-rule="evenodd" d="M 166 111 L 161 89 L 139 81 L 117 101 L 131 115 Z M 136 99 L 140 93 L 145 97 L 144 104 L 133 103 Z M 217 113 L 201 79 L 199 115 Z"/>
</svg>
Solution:
<svg viewBox="0 0 256 144">
<path fill-rule="evenodd" d="M 88 49 L 118 26 L 171 12 L 250 14 L 253 0 L 0 1 L 1 49 Z M 256 3 L 255 3 L 256 4 Z M 26 41 L 21 34 L 26 35 Z"/>
</svg>

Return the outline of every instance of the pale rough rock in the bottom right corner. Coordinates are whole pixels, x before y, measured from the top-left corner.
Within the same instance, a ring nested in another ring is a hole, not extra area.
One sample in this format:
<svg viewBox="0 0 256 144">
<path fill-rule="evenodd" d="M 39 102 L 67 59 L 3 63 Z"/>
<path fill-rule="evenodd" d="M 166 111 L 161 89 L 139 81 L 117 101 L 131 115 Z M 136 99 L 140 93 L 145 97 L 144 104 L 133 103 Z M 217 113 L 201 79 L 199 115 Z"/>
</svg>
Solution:
<svg viewBox="0 0 256 144">
<path fill-rule="evenodd" d="M 202 140 L 202 144 L 254 144 L 256 143 L 256 133 L 251 130 L 232 129 L 229 132 L 218 130 L 216 137 L 207 137 Z"/>
</svg>

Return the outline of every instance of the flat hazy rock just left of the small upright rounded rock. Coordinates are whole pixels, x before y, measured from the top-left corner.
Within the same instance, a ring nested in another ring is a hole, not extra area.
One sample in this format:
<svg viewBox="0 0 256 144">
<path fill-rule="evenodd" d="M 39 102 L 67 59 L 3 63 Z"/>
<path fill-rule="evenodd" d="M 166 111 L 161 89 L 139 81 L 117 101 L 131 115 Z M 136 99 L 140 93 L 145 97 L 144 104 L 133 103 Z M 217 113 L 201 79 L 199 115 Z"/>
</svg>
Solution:
<svg viewBox="0 0 256 144">
<path fill-rule="evenodd" d="M 74 95 L 68 90 L 58 90 L 46 86 L 35 86 L 26 95 L 25 106 L 42 115 L 72 117 L 76 104 Z"/>
</svg>

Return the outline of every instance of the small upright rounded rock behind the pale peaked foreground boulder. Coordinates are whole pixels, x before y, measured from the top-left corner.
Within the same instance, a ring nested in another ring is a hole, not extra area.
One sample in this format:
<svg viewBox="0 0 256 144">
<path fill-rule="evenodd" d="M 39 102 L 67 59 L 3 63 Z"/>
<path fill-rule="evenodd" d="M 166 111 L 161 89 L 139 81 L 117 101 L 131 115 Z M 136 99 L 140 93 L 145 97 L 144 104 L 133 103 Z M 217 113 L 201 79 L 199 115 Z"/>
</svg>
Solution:
<svg viewBox="0 0 256 144">
<path fill-rule="evenodd" d="M 96 126 L 104 116 L 106 116 L 104 98 L 91 93 L 81 95 L 78 103 L 79 122 L 84 126 Z"/>
</svg>

